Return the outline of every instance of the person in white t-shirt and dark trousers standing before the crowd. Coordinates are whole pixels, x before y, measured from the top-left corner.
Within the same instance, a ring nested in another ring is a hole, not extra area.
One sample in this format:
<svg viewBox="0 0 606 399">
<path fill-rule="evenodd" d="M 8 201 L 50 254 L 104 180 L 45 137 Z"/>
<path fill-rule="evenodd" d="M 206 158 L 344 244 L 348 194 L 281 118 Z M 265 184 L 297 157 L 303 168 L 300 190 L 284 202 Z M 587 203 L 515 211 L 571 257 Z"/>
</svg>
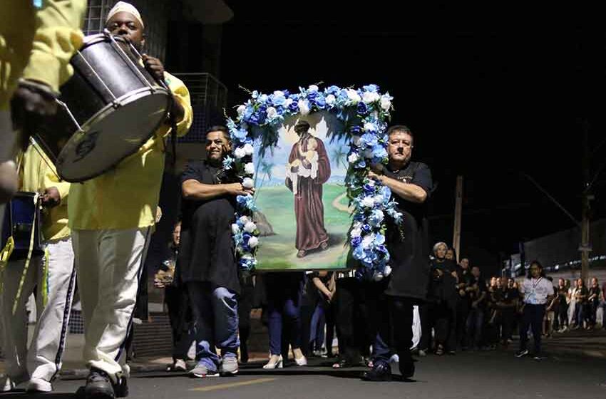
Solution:
<svg viewBox="0 0 606 399">
<path fill-rule="evenodd" d="M 540 360 L 541 333 L 543 331 L 543 317 L 545 304 L 553 299 L 553 284 L 545 277 L 543 266 L 539 261 L 532 261 L 528 276 L 520 284 L 520 294 L 524 298 L 522 323 L 520 323 L 520 351 L 515 354 L 518 358 L 528 355 L 528 327 L 533 328 L 535 341 L 535 360 Z"/>
</svg>

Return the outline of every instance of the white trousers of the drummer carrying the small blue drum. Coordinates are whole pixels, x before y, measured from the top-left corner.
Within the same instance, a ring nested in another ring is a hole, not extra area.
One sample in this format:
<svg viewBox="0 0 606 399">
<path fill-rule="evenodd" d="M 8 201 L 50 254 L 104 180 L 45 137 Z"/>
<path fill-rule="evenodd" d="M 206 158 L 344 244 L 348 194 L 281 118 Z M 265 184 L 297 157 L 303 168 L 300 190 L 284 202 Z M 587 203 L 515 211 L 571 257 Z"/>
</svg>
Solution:
<svg viewBox="0 0 606 399">
<path fill-rule="evenodd" d="M 46 248 L 48 250 L 46 307 L 43 307 L 41 292 L 43 257 L 31 259 L 14 316 L 13 304 L 25 260 L 9 261 L 5 269 L 1 301 L 3 350 L 6 357 L 6 374 L 16 379 L 28 375 L 29 371 L 32 377 L 50 382 L 61 368 L 76 270 L 73 266 L 71 239 L 48 242 Z M 28 352 L 26 303 L 36 287 L 38 323 Z"/>
</svg>

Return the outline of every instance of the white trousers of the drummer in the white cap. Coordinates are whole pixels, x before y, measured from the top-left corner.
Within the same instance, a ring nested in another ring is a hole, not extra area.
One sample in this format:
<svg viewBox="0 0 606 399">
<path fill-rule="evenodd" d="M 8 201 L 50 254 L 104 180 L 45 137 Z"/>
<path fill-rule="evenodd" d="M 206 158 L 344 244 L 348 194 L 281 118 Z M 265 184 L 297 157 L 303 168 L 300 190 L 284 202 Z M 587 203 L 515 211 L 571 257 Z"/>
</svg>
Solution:
<svg viewBox="0 0 606 399">
<path fill-rule="evenodd" d="M 149 227 L 72 231 L 84 316 L 84 361 L 114 382 L 128 377 L 123 349 L 150 234 Z"/>
</svg>

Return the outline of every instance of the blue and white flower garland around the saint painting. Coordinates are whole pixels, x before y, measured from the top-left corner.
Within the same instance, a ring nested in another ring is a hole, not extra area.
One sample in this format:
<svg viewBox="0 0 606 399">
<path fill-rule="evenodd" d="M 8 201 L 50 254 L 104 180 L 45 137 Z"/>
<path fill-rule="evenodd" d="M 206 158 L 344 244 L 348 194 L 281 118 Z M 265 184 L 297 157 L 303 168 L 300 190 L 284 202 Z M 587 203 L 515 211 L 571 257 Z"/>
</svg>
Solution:
<svg viewBox="0 0 606 399">
<path fill-rule="evenodd" d="M 284 118 L 308 115 L 319 111 L 334 113 L 344 123 L 344 128 L 330 132 L 334 138 L 349 138 L 347 157 L 349 168 L 346 175 L 347 195 L 354 206 L 353 222 L 349 229 L 349 243 L 354 259 L 379 279 L 389 274 L 389 251 L 385 246 L 385 217 L 397 224 L 402 215 L 391 199 L 389 187 L 370 180 L 367 175 L 371 165 L 386 165 L 386 121 L 391 111 L 389 93 L 381 94 L 376 85 L 361 89 L 330 86 L 320 90 L 318 86 L 299 88 L 299 93 L 287 90 L 267 95 L 253 91 L 247 103 L 237 107 L 237 118 L 227 118 L 227 128 L 232 139 L 232 155 L 223 162 L 225 169 L 235 168 L 244 187 L 253 187 L 255 166 L 252 163 L 253 143 L 259 140 L 259 154 L 277 145 L 278 129 Z M 380 166 L 379 166 L 380 167 Z M 237 259 L 242 269 L 254 269 L 255 253 L 260 232 L 252 220 L 255 212 L 252 195 L 237 197 L 236 222 L 232 232 Z"/>
</svg>

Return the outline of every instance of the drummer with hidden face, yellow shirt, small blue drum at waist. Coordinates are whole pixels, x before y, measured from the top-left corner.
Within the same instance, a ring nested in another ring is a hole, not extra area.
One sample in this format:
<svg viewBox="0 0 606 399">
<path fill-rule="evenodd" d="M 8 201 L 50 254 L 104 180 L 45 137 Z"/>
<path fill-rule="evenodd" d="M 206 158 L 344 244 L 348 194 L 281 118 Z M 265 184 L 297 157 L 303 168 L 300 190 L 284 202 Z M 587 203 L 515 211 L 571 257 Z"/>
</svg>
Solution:
<svg viewBox="0 0 606 399">
<path fill-rule="evenodd" d="M 29 392 L 50 392 L 51 381 L 61 368 L 76 282 L 67 227 L 70 184 L 59 180 L 54 165 L 33 145 L 18 163 L 20 190 L 41 193 L 42 220 L 36 220 L 35 224 L 42 227 L 46 256 L 37 252 L 28 261 L 26 254 L 13 252 L 0 276 L 4 285 L 0 314 L 6 358 L 6 376 L 0 380 L 0 391 L 13 390 L 19 383 L 29 381 Z M 29 237 L 25 239 L 30 242 Z M 28 351 L 26 302 L 34 290 L 40 316 Z"/>
</svg>

